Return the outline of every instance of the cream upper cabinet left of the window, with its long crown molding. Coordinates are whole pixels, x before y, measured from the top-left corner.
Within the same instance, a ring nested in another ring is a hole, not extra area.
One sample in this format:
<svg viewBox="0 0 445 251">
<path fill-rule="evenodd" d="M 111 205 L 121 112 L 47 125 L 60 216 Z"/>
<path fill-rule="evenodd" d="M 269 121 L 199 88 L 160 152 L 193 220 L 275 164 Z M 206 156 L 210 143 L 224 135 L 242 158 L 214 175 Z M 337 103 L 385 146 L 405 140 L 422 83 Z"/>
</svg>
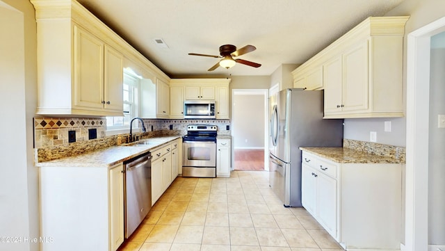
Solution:
<svg viewBox="0 0 445 251">
<path fill-rule="evenodd" d="M 37 114 L 122 116 L 124 59 L 170 80 L 77 1 L 31 3 L 38 30 Z"/>
</svg>

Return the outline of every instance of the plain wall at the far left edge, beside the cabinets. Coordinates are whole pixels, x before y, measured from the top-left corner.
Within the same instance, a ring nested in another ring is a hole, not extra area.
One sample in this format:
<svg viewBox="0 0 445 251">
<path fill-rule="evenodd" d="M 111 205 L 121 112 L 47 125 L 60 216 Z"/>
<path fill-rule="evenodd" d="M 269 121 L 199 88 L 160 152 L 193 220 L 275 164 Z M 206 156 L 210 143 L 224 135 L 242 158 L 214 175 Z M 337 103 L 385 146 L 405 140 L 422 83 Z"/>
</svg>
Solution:
<svg viewBox="0 0 445 251">
<path fill-rule="evenodd" d="M 0 250 L 39 250 L 38 170 L 33 166 L 36 107 L 36 24 L 27 0 L 0 1 Z M 20 239 L 21 238 L 21 239 Z"/>
</svg>

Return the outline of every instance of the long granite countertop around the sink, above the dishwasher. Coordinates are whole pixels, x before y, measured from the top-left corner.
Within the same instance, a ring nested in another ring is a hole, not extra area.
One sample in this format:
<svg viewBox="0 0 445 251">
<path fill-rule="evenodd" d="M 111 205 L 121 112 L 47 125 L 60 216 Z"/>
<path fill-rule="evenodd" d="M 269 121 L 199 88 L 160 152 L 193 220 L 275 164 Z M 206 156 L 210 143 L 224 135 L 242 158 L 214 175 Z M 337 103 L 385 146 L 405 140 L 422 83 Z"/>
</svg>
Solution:
<svg viewBox="0 0 445 251">
<path fill-rule="evenodd" d="M 70 156 L 62 159 L 54 159 L 52 161 L 44 161 L 35 163 L 37 167 L 104 167 L 108 168 L 117 163 L 127 161 L 140 154 L 150 152 L 151 149 L 159 147 L 165 143 L 168 143 L 180 136 L 167 136 L 149 138 L 151 140 L 159 140 L 159 143 L 152 145 L 118 145 L 113 147 L 107 147 L 95 152 L 89 152 L 86 154 L 80 154 L 77 156 Z M 145 139 L 144 139 L 145 140 Z"/>
</svg>

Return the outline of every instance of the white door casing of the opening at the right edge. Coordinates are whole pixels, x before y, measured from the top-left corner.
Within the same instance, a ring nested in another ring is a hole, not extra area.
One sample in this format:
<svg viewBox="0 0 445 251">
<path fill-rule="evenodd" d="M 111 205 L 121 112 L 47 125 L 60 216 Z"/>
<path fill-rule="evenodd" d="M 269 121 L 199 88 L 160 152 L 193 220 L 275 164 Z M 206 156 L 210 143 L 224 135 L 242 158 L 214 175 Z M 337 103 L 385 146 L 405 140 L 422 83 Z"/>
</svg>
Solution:
<svg viewBox="0 0 445 251">
<path fill-rule="evenodd" d="M 429 236 L 429 232 L 432 232 L 434 226 L 430 225 L 432 222 L 429 217 L 430 214 L 435 213 L 430 208 L 432 203 L 429 201 L 429 197 L 435 196 L 433 194 L 435 192 L 429 190 L 431 188 L 437 189 L 430 184 L 431 181 L 434 181 L 431 177 L 437 174 L 437 168 L 432 163 L 437 160 L 432 160 L 431 156 L 441 145 L 432 145 L 432 137 L 434 135 L 437 137 L 435 131 L 438 127 L 437 112 L 439 111 L 430 110 L 435 102 L 435 99 L 431 99 L 431 91 L 435 92 L 435 88 L 437 88 L 432 84 L 433 82 L 430 82 L 434 78 L 432 65 L 430 65 L 432 63 L 430 54 L 432 37 L 444 31 L 445 17 L 442 17 L 442 19 L 408 34 L 406 206 L 403 250 L 428 250 L 428 243 L 432 238 L 432 236 Z M 443 82 L 443 79 L 441 80 Z M 429 172 L 432 172 L 432 174 L 429 174 Z M 443 196 L 432 197 L 432 199 L 437 199 L 439 202 L 444 201 Z M 439 220 L 443 219 L 442 213 L 439 215 Z M 432 250 L 435 247 L 430 245 L 429 248 L 429 250 Z M 434 250 L 439 250 L 438 248 Z"/>
</svg>

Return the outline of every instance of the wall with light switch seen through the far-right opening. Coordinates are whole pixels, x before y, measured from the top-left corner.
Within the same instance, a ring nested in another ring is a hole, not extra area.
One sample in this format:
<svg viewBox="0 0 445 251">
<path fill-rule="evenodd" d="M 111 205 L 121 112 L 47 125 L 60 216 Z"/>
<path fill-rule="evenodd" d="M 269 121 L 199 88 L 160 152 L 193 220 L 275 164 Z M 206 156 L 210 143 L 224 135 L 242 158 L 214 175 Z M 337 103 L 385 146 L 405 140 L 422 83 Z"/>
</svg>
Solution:
<svg viewBox="0 0 445 251">
<path fill-rule="evenodd" d="M 431 38 L 428 241 L 445 244 L 445 128 L 437 115 L 445 115 L 445 32 Z"/>
</svg>

